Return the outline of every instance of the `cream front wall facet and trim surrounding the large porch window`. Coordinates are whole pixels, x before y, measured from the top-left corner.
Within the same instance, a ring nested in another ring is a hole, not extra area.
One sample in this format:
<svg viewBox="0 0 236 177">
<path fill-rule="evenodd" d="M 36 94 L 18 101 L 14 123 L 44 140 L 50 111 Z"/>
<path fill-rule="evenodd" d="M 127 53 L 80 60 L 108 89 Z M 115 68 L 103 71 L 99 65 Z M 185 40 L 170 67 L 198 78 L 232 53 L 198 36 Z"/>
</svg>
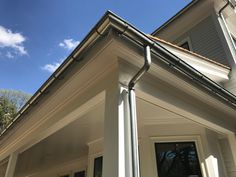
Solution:
<svg viewBox="0 0 236 177">
<path fill-rule="evenodd" d="M 198 156 L 201 159 L 203 176 L 206 177 L 206 170 L 203 160 L 204 129 L 188 124 L 172 125 L 148 125 L 141 128 L 140 133 L 140 156 L 141 156 L 141 176 L 157 176 L 154 143 L 160 141 L 195 141 L 199 139 L 196 146 L 199 147 Z"/>
</svg>

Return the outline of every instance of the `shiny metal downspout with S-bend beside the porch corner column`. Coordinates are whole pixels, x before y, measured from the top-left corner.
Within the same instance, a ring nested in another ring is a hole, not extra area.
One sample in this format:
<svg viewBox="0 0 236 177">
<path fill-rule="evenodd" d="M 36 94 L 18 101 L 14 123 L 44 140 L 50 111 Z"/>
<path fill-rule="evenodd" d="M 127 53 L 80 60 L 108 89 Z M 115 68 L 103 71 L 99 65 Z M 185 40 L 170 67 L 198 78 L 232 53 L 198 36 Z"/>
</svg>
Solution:
<svg viewBox="0 0 236 177">
<path fill-rule="evenodd" d="M 135 84 L 148 71 L 151 65 L 151 49 L 145 47 L 145 61 L 143 67 L 135 74 L 128 84 L 129 89 L 129 108 L 130 108 L 130 125 L 131 125 L 131 153 L 132 153 L 132 172 L 133 177 L 139 177 L 139 151 L 138 151 L 138 130 L 137 130 L 137 114 L 135 99 Z"/>
</svg>

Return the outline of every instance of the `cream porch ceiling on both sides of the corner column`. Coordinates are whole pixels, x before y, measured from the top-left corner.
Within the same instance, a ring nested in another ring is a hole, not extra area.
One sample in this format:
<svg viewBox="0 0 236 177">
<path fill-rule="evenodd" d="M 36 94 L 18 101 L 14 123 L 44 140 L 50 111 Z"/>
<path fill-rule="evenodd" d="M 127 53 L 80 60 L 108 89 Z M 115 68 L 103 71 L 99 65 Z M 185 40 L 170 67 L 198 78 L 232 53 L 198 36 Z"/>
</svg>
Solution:
<svg viewBox="0 0 236 177">
<path fill-rule="evenodd" d="M 103 138 L 104 112 L 103 101 L 74 122 L 22 152 L 16 173 L 29 175 L 87 156 L 88 144 Z M 139 127 L 148 124 L 191 123 L 180 115 L 140 98 L 137 99 L 137 113 Z"/>
</svg>

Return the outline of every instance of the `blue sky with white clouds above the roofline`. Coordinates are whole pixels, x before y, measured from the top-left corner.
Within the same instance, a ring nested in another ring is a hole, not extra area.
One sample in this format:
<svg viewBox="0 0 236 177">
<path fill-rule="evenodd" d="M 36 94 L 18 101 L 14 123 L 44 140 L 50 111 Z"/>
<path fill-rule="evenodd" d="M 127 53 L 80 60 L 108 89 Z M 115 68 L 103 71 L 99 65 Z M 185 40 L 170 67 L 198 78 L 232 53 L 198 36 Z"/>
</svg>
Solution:
<svg viewBox="0 0 236 177">
<path fill-rule="evenodd" d="M 153 32 L 191 0 L 0 0 L 0 88 L 33 94 L 107 11 Z"/>
</svg>

